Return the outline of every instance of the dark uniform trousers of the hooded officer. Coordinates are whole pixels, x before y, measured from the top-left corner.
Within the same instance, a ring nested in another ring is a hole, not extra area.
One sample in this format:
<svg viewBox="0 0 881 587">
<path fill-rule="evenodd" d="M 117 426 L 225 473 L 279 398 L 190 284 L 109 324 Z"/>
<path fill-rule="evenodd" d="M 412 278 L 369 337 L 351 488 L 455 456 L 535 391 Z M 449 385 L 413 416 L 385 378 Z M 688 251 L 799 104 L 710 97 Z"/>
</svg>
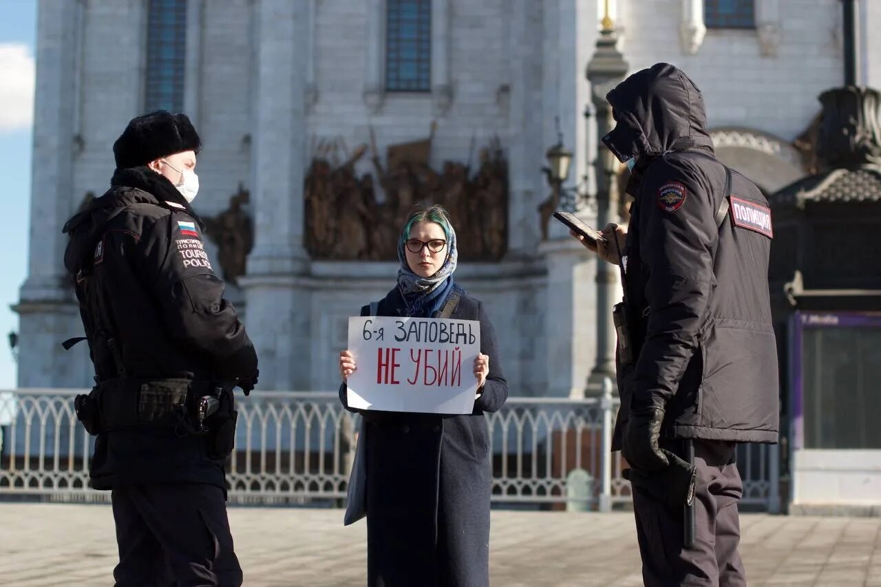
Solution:
<svg viewBox="0 0 881 587">
<path fill-rule="evenodd" d="M 682 450 L 670 446 L 677 454 Z M 694 495 L 694 547 L 685 549 L 684 512 L 658 499 L 651 488 L 633 486 L 633 510 L 647 587 L 746 585 L 737 553 L 737 502 L 744 493 L 734 442 L 694 441 L 698 479 Z"/>
</svg>

